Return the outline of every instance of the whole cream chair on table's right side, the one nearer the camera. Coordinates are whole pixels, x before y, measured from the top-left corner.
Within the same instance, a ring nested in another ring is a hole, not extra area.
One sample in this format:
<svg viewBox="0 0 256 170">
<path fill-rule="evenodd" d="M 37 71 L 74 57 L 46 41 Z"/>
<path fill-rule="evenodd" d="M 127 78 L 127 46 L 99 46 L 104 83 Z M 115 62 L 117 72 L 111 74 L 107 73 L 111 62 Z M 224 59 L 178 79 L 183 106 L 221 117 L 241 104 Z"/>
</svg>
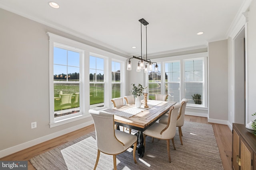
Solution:
<svg viewBox="0 0 256 170">
<path fill-rule="evenodd" d="M 176 134 L 176 122 L 177 122 L 177 117 L 178 117 L 178 112 L 180 110 L 180 107 L 181 107 L 180 103 L 177 103 L 174 106 L 170 107 L 167 125 L 162 123 L 154 123 L 152 126 L 150 126 L 148 129 L 146 129 L 143 132 L 145 147 L 146 147 L 146 136 L 166 140 L 169 162 L 171 162 L 170 139 L 172 139 L 172 145 L 174 147 L 174 150 L 176 150 L 173 138 Z"/>
</svg>

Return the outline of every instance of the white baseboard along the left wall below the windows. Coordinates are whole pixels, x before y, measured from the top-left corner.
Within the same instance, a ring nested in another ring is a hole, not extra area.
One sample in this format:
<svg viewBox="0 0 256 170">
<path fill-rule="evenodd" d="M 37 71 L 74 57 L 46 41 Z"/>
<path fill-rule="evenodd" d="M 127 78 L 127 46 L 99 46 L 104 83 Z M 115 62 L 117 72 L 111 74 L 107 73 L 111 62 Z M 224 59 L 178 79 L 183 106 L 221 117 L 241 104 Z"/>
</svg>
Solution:
<svg viewBox="0 0 256 170">
<path fill-rule="evenodd" d="M 68 129 L 64 129 L 64 130 L 61 130 L 61 131 L 58 131 L 58 132 L 55 132 L 55 133 L 52 133 L 52 134 L 49 134 L 49 135 L 37 138 L 37 139 L 34 139 L 32 141 L 28 141 L 26 143 L 22 143 L 20 145 L 16 145 L 14 147 L 10 147 L 10 148 L 4 149 L 4 150 L 0 150 L 0 158 L 2 158 L 4 156 L 8 156 L 10 154 L 13 154 L 15 152 L 18 152 L 20 150 L 32 147 L 34 145 L 38 145 L 39 143 L 48 141 L 50 139 L 54 139 L 54 138 L 59 137 L 61 135 L 65 135 L 65 134 L 70 133 L 72 131 L 76 131 L 78 129 L 81 129 L 83 127 L 86 127 L 86 126 L 89 126 L 89 125 L 92 125 L 92 124 L 93 124 L 93 121 L 88 121 L 86 123 L 82 123 L 80 125 L 76 125 L 76 126 L 68 128 Z"/>
</svg>

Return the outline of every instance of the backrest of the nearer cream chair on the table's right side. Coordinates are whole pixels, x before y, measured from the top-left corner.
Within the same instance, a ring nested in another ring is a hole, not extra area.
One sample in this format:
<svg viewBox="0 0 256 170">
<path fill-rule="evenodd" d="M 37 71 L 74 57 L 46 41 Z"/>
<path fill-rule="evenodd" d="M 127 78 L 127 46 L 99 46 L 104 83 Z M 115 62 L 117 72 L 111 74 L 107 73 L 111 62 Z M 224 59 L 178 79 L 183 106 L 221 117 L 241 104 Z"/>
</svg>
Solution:
<svg viewBox="0 0 256 170">
<path fill-rule="evenodd" d="M 168 114 L 168 123 L 166 128 L 162 130 L 160 134 L 162 134 L 163 139 L 172 139 L 176 134 L 176 122 L 178 117 L 178 112 L 180 110 L 181 104 L 176 103 L 169 110 Z"/>
</svg>

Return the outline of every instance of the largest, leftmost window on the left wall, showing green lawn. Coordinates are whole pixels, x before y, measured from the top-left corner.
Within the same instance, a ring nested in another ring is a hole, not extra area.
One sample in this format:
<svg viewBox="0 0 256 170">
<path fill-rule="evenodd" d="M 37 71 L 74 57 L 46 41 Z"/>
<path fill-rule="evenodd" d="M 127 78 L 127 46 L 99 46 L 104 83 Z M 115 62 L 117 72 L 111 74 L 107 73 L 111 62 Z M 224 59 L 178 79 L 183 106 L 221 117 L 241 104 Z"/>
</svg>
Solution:
<svg viewBox="0 0 256 170">
<path fill-rule="evenodd" d="M 80 113 L 80 58 L 82 52 L 54 46 L 54 117 Z"/>
</svg>

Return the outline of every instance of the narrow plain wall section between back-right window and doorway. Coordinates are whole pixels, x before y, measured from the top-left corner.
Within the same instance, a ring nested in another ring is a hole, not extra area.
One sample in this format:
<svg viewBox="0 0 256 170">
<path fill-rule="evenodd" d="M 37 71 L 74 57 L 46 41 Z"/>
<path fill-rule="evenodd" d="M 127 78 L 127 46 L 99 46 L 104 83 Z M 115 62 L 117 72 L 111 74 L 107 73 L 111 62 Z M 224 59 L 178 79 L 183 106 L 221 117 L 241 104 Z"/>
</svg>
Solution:
<svg viewBox="0 0 256 170">
<path fill-rule="evenodd" d="M 228 123 L 228 40 L 208 44 L 208 121 Z"/>
</svg>

